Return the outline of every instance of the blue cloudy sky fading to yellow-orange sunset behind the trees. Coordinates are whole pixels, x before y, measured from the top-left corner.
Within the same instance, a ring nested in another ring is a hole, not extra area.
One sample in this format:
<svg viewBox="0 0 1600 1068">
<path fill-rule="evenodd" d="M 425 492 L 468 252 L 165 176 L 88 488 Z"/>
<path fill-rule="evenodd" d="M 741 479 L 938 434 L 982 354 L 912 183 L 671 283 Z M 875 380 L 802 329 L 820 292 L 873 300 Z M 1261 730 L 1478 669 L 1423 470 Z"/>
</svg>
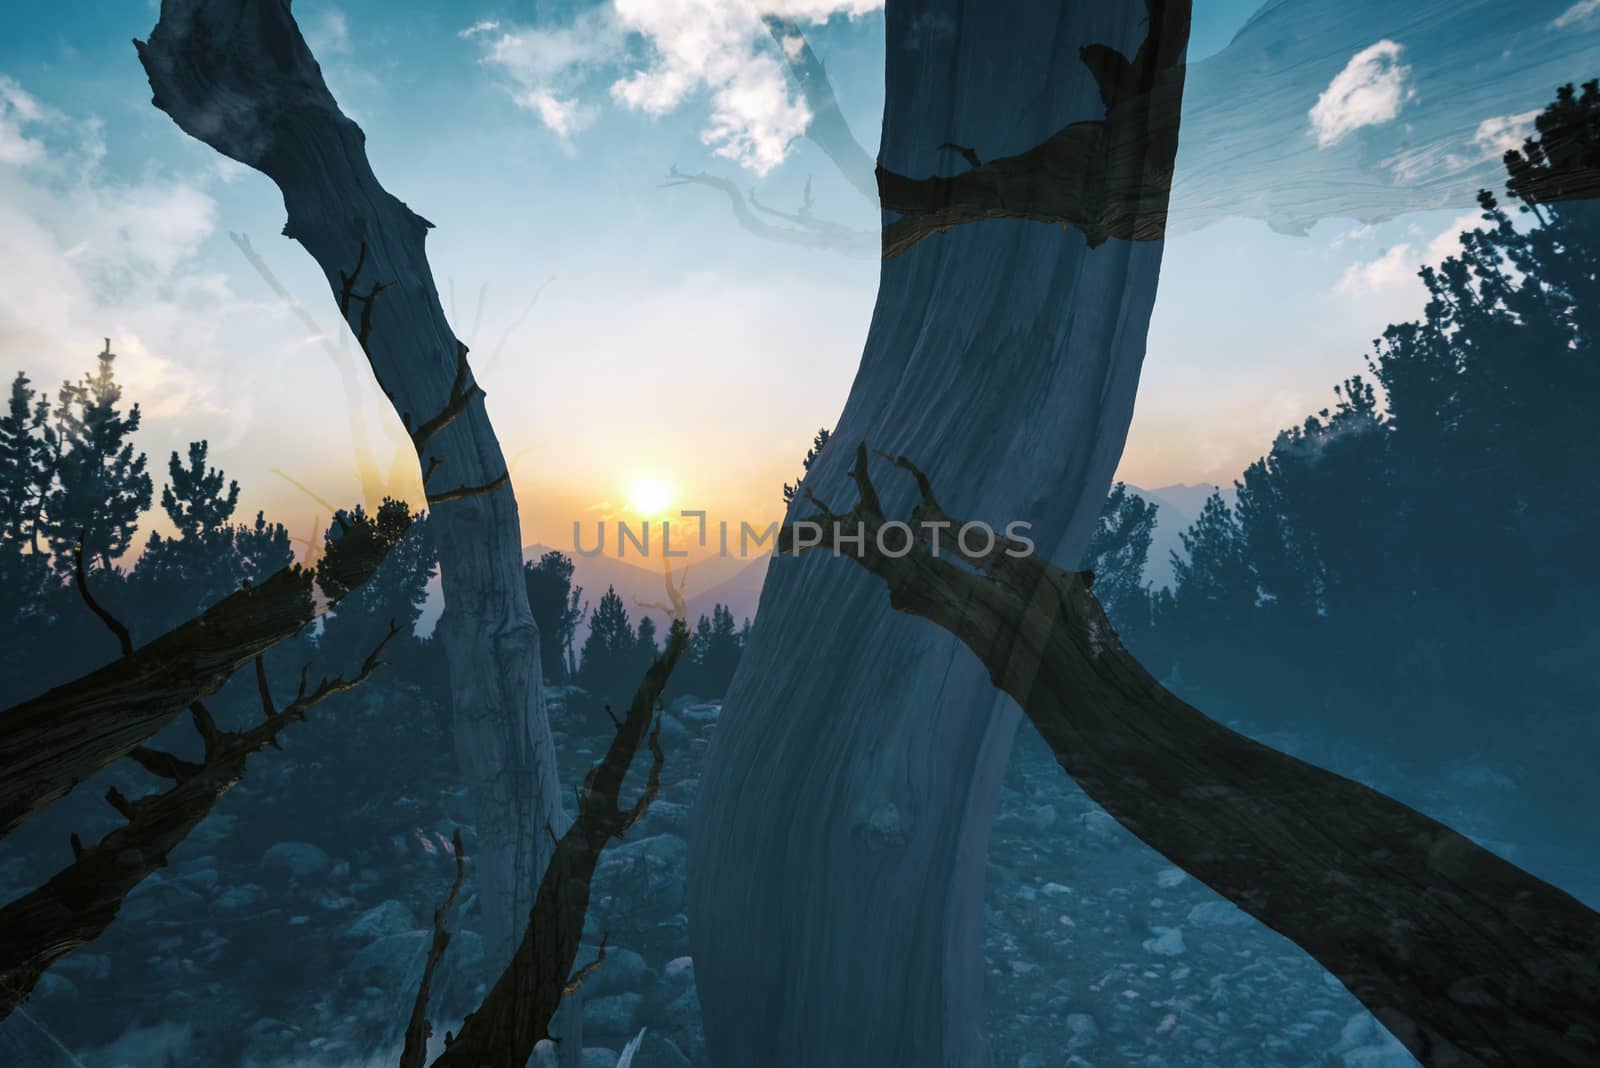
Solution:
<svg viewBox="0 0 1600 1068">
<path fill-rule="evenodd" d="M 1190 59 L 1222 51 L 1258 6 L 1198 3 Z M 789 10 L 870 150 L 880 2 Z M 1552 32 L 1600 21 L 1592 0 L 1552 10 Z M 808 114 L 747 0 L 298 0 L 294 13 L 381 181 L 437 225 L 429 256 L 512 462 L 523 540 L 566 547 L 574 520 L 640 507 L 778 518 L 781 483 L 850 390 L 877 262 L 752 235 L 717 190 L 670 185 L 669 169 L 786 211 L 810 181 L 819 216 L 861 230 L 877 213 L 802 137 Z M 126 0 L 0 5 L 0 373 L 53 390 L 109 337 L 152 467 L 206 438 L 242 510 L 296 537 L 362 496 L 352 412 L 387 489 L 419 500 L 414 457 L 320 272 L 278 235 L 277 190 L 150 106 L 130 42 L 155 14 Z M 1350 149 L 1437 104 L 1408 40 L 1341 50 L 1285 106 L 1296 150 Z M 1533 110 L 1506 107 L 1466 115 L 1458 139 L 1491 155 L 1515 144 Z M 1474 217 L 1456 195 L 1304 235 L 1221 217 L 1171 237 L 1118 475 L 1232 481 L 1330 403 L 1387 323 L 1421 313 L 1416 269 Z"/>
</svg>

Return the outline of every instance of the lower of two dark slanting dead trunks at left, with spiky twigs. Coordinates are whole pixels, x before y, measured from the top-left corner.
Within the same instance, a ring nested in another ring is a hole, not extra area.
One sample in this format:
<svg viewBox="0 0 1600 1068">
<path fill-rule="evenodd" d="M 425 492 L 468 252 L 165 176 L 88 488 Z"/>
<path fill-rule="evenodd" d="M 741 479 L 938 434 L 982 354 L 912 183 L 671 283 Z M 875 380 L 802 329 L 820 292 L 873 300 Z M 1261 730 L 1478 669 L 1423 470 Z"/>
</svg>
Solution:
<svg viewBox="0 0 1600 1068">
<path fill-rule="evenodd" d="M 123 900 L 166 857 L 218 799 L 245 775 L 245 763 L 266 747 L 277 747 L 290 724 L 334 694 L 350 691 L 376 671 L 384 646 L 398 633 L 394 627 L 350 676 L 323 678 L 306 689 L 301 671 L 294 699 L 278 708 L 266 679 L 262 657 L 254 657 L 262 721 L 248 731 L 222 731 L 198 699 L 189 703 L 203 755 L 198 763 L 165 750 L 138 745 L 128 756 L 152 775 L 171 780 L 171 788 L 142 798 L 126 798 L 112 787 L 106 801 L 128 822 L 94 846 L 72 835 L 72 863 L 38 889 L 0 908 L 0 1020 L 27 999 L 45 970 L 98 938 L 117 918 Z"/>
</svg>

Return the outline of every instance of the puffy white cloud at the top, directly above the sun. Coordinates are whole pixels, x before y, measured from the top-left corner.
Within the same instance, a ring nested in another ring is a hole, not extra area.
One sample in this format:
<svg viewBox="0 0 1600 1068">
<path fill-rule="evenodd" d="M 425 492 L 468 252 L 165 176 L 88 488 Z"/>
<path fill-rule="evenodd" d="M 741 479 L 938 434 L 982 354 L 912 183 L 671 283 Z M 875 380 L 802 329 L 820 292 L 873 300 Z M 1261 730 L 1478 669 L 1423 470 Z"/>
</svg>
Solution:
<svg viewBox="0 0 1600 1068">
<path fill-rule="evenodd" d="M 883 0 L 613 0 L 566 27 L 485 21 L 461 37 L 482 38 L 485 62 L 512 80 L 514 99 L 563 139 L 595 118 L 581 98 L 586 83 L 600 70 L 614 70 L 618 56 L 638 45 L 642 62 L 611 82 L 610 99 L 666 115 L 704 94 L 710 106 L 701 131 L 706 145 L 766 174 L 805 133 L 811 112 L 790 90 L 762 14 L 814 24 L 882 6 Z M 792 54 L 798 38 L 782 48 Z"/>
</svg>

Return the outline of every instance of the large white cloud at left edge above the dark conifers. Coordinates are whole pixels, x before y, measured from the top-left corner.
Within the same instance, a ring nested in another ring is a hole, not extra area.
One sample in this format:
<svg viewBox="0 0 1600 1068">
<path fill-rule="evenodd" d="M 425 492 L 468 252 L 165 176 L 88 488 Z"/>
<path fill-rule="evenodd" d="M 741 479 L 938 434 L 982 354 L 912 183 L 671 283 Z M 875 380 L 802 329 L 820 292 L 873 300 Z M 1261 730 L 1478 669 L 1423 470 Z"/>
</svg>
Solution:
<svg viewBox="0 0 1600 1068">
<path fill-rule="evenodd" d="M 216 374 L 189 366 L 189 355 L 213 345 L 224 352 L 219 318 L 250 307 L 195 262 L 216 230 L 216 201 L 173 174 L 114 176 L 98 122 L 45 107 L 14 82 L 0 82 L 0 115 L 30 134 L 24 158 L 11 152 L 0 160 L 6 377 L 26 369 L 53 393 L 110 336 L 117 376 L 144 408 L 152 441 L 168 432 L 181 438 L 214 417 L 221 406 L 213 398 L 224 395 Z M 235 417 L 229 427 L 243 432 L 243 422 Z"/>
</svg>

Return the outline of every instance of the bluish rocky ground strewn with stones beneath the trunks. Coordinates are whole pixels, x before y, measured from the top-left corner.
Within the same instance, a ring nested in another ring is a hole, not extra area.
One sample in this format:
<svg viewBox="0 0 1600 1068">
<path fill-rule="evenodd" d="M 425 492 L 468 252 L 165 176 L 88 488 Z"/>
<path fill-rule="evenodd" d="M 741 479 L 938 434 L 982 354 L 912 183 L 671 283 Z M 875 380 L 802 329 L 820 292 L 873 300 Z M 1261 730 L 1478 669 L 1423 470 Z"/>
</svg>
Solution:
<svg viewBox="0 0 1600 1068">
<path fill-rule="evenodd" d="M 410 695 L 413 700 L 416 694 Z M 603 713 L 552 694 L 563 780 L 610 737 Z M 291 745 L 251 769 L 237 796 L 128 902 L 115 927 L 72 954 L 24 1014 L 0 1025 L 0 1063 L 38 1068 L 357 1068 L 394 1063 L 421 975 L 427 923 L 451 876 L 448 843 L 466 798 L 440 785 L 442 737 L 398 718 L 405 694 L 368 695 L 357 716 L 419 767 L 389 767 L 363 791 L 330 753 Z M 683 915 L 685 835 L 720 707 L 669 711 L 664 787 L 645 822 L 600 865 L 586 938 L 608 953 L 584 988 L 586 1068 L 704 1065 Z M 338 727 L 323 726 L 326 737 Z M 408 788 L 397 788 L 405 782 Z M 414 785 L 414 788 L 411 788 Z M 338 798 L 371 798 L 339 807 Z M 262 815 L 264 806 L 270 815 Z M 282 809 L 301 815 L 282 830 Z M 354 843 L 354 844 L 352 844 Z M 48 863 L 0 865 L 10 895 Z M 461 911 L 470 924 L 474 905 Z M 998 1068 L 1227 1065 L 1402 1068 L 1411 1058 L 1293 945 L 1131 839 L 1072 787 L 1026 727 L 989 862 L 987 1028 Z M 587 959 L 586 948 L 581 959 Z M 435 1018 L 480 996 L 482 943 L 446 958 Z"/>
</svg>

